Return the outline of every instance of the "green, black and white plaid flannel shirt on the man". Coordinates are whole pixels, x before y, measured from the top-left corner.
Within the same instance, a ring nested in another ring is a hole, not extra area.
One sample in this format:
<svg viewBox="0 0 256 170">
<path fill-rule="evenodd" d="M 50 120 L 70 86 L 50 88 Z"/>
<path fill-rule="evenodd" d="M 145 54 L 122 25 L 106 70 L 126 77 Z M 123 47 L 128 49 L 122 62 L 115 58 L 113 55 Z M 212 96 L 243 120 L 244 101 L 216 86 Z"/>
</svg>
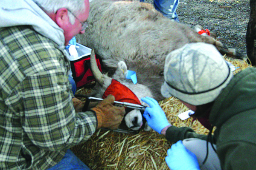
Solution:
<svg viewBox="0 0 256 170">
<path fill-rule="evenodd" d="M 48 169 L 95 132 L 95 113 L 73 108 L 69 69 L 31 27 L 0 28 L 0 169 Z"/>
</svg>

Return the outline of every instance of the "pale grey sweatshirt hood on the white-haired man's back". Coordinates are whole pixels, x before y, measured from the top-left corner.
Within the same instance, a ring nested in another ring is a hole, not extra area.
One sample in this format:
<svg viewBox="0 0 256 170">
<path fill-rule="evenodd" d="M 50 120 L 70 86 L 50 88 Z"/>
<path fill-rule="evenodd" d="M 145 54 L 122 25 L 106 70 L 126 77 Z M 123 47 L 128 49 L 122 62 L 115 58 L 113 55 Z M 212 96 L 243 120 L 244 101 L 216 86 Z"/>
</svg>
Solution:
<svg viewBox="0 0 256 170">
<path fill-rule="evenodd" d="M 32 26 L 64 48 L 64 31 L 32 0 L 0 0 L 0 27 Z"/>
</svg>

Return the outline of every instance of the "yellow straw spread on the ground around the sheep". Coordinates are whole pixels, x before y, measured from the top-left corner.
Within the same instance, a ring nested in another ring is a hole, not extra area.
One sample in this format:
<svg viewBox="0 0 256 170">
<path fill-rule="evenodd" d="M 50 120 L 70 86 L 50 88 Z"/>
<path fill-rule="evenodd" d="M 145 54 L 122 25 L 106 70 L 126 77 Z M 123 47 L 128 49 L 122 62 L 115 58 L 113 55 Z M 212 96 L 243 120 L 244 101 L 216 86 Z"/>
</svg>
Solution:
<svg viewBox="0 0 256 170">
<path fill-rule="evenodd" d="M 251 67 L 245 60 L 228 59 L 235 67 L 235 73 Z M 81 90 L 80 93 L 86 93 Z M 169 122 L 177 127 L 191 127 L 197 133 L 207 134 L 209 131 L 192 118 L 184 121 L 178 114 L 186 110 L 175 97 L 159 102 Z M 71 150 L 92 170 L 169 170 L 164 158 L 172 143 L 157 132 L 140 131 L 138 134 L 125 134 L 98 130 L 84 144 Z"/>
</svg>

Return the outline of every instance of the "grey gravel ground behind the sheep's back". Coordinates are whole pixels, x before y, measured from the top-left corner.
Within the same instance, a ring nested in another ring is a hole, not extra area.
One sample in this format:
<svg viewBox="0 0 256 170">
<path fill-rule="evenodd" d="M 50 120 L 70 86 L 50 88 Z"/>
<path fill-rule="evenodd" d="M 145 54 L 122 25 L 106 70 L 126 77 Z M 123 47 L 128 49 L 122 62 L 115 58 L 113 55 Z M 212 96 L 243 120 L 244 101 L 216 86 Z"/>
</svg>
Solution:
<svg viewBox="0 0 256 170">
<path fill-rule="evenodd" d="M 153 3 L 153 0 L 145 0 Z M 230 48 L 246 55 L 245 34 L 250 16 L 249 0 L 180 0 L 177 14 L 180 23 L 194 28 L 200 24 Z"/>
</svg>

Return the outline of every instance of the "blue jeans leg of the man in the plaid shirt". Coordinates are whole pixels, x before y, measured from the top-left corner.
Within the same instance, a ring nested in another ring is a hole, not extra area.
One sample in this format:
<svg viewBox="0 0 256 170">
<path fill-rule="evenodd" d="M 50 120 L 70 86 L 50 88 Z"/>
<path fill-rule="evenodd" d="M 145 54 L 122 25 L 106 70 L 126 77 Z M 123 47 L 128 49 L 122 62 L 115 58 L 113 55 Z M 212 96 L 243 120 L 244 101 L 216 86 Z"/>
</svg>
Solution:
<svg viewBox="0 0 256 170">
<path fill-rule="evenodd" d="M 90 170 L 70 149 L 55 166 L 47 170 Z"/>
</svg>

